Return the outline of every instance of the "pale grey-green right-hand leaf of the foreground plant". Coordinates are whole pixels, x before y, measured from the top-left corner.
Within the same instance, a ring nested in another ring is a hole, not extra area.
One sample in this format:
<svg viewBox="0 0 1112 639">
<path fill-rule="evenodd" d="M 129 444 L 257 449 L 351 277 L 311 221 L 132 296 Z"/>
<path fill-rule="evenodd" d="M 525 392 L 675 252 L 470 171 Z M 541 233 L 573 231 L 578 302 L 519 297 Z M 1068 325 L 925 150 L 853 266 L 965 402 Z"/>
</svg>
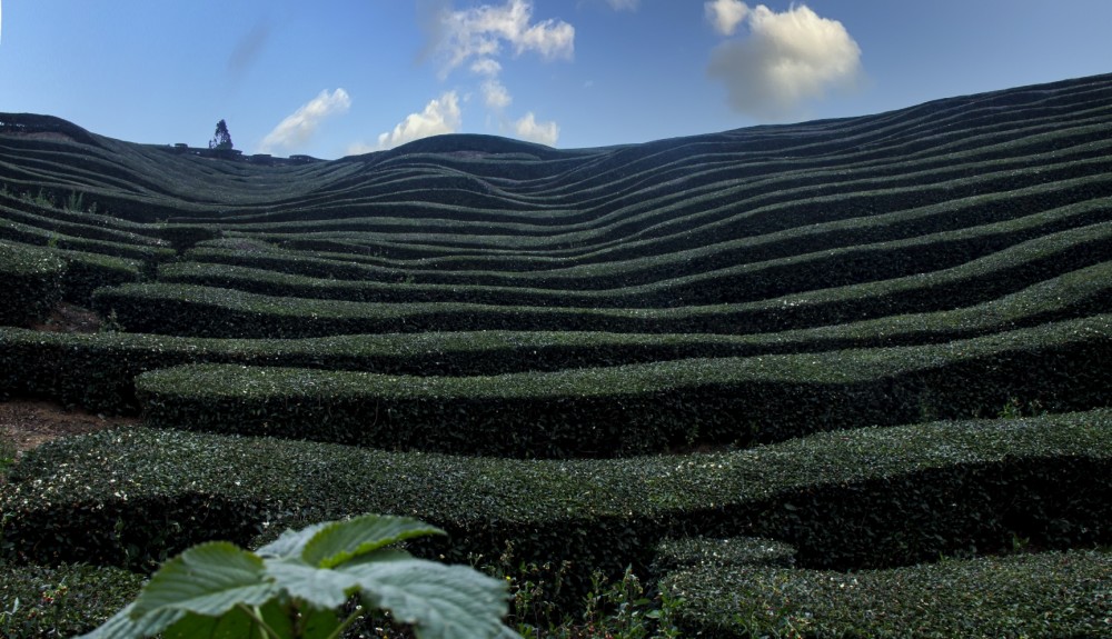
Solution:
<svg viewBox="0 0 1112 639">
<path fill-rule="evenodd" d="M 336 571 L 355 577 L 368 605 L 411 623 L 419 639 L 516 636 L 507 635 L 502 622 L 508 609 L 506 583 L 473 568 L 399 559 Z"/>
</svg>

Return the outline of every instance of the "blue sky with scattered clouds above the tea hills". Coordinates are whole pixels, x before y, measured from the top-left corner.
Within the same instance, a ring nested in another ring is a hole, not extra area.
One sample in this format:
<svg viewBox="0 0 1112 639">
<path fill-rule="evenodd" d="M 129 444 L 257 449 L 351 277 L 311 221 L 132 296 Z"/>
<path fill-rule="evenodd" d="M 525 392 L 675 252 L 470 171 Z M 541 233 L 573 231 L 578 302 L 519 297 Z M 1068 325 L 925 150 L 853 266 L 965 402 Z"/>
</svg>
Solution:
<svg viewBox="0 0 1112 639">
<path fill-rule="evenodd" d="M 319 158 L 560 148 L 1112 72 L 1112 1 L 0 0 L 0 111 Z"/>
</svg>

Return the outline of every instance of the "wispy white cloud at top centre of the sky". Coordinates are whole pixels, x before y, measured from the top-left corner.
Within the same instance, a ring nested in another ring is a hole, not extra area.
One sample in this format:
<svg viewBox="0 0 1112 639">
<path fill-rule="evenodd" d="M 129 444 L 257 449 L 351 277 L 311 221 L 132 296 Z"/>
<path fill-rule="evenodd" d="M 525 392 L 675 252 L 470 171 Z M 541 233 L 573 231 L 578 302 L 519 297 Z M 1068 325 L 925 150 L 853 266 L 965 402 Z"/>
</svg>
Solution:
<svg viewBox="0 0 1112 639">
<path fill-rule="evenodd" d="M 444 11 L 437 34 L 435 47 L 445 58 L 444 76 L 469 59 L 493 59 L 504 42 L 515 54 L 535 51 L 547 59 L 570 58 L 575 50 L 575 28 L 554 19 L 533 23 L 529 0 Z"/>
</svg>

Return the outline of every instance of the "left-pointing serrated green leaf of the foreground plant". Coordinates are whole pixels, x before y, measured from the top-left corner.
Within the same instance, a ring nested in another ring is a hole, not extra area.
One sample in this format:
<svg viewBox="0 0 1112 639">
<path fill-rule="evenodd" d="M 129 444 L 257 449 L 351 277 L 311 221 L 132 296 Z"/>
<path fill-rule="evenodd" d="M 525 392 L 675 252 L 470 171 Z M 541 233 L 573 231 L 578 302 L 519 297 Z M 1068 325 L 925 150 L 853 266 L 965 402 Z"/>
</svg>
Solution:
<svg viewBox="0 0 1112 639">
<path fill-rule="evenodd" d="M 167 561 L 136 599 L 131 618 L 162 610 L 219 617 L 237 603 L 258 606 L 277 593 L 262 560 L 226 541 L 201 543 Z"/>
</svg>

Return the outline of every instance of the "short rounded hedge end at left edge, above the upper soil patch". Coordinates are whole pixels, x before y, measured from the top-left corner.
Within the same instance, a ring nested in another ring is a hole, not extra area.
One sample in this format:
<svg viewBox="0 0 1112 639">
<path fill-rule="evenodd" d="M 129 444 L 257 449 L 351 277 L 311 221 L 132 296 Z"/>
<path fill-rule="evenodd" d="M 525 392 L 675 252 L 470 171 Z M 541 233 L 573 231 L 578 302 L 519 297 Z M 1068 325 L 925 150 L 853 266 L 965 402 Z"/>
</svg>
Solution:
<svg viewBox="0 0 1112 639">
<path fill-rule="evenodd" d="M 0 241 L 0 326 L 30 326 L 62 298 L 66 261 L 49 249 Z"/>
</svg>

